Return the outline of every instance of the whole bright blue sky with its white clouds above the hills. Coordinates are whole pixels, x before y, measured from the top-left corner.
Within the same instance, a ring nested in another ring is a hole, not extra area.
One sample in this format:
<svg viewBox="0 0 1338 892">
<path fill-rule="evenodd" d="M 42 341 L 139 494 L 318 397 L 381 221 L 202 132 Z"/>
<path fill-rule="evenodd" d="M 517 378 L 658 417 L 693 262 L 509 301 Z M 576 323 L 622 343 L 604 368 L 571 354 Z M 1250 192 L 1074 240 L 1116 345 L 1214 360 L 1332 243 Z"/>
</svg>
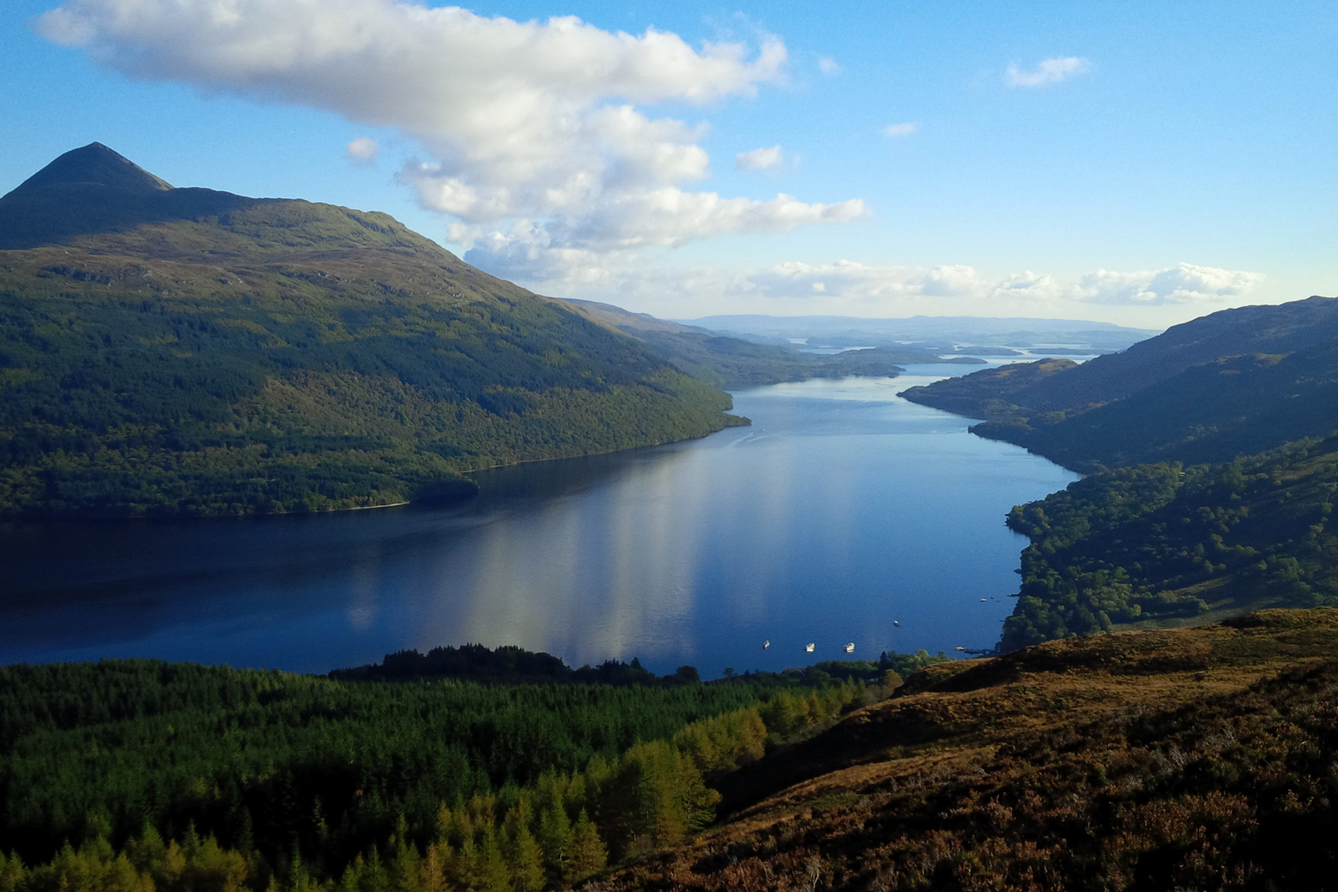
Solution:
<svg viewBox="0 0 1338 892">
<path fill-rule="evenodd" d="M 662 317 L 1338 294 L 1331 1 L 7 0 L 0 47 L 0 193 L 98 140 Z"/>
</svg>

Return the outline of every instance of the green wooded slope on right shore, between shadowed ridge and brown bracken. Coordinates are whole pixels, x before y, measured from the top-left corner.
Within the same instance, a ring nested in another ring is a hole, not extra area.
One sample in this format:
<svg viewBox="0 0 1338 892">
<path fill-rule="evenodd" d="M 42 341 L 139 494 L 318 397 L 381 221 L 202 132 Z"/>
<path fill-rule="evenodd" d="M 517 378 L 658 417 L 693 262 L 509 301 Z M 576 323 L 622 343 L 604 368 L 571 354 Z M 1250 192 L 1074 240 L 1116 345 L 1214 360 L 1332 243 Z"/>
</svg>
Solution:
<svg viewBox="0 0 1338 892">
<path fill-rule="evenodd" d="M 1259 607 L 1338 604 L 1338 440 L 1145 464 L 1013 510 L 1032 539 L 1001 647 Z"/>
</svg>

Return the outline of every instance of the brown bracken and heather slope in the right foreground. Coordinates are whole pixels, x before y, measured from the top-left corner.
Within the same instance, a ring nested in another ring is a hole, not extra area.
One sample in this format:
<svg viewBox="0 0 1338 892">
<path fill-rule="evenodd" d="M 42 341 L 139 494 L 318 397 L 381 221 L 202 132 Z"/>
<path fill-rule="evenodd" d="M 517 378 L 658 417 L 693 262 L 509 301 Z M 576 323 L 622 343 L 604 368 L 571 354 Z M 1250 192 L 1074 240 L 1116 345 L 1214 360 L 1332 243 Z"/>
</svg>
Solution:
<svg viewBox="0 0 1338 892">
<path fill-rule="evenodd" d="M 721 789 L 590 888 L 1334 888 L 1338 610 L 933 666 Z"/>
</svg>

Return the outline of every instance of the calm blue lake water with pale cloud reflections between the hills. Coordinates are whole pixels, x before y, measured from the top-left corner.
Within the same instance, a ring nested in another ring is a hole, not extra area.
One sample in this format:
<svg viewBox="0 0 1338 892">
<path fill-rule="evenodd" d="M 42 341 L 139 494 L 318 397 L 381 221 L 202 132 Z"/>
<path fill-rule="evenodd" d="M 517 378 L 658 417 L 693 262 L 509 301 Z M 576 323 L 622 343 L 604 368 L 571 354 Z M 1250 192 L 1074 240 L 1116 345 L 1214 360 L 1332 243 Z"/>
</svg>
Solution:
<svg viewBox="0 0 1338 892">
<path fill-rule="evenodd" d="M 895 396 L 974 368 L 910 370 L 740 392 L 752 427 L 484 472 L 454 508 L 4 524 L 0 662 L 321 673 L 482 642 L 716 677 L 986 649 L 1026 544 L 1005 514 L 1077 477 Z"/>
</svg>

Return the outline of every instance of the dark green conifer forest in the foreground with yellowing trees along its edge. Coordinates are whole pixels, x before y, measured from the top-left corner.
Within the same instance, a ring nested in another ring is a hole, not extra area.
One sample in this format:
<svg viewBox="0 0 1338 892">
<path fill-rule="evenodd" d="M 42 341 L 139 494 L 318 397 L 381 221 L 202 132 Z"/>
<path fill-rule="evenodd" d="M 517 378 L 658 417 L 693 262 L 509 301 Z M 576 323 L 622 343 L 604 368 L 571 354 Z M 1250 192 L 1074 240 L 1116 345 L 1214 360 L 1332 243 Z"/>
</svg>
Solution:
<svg viewBox="0 0 1338 892">
<path fill-rule="evenodd" d="M 0 667 L 0 889 L 561 885 L 706 826 L 716 778 L 898 683 L 872 663 L 826 669 L 854 681 L 819 667 L 492 685 Z"/>
</svg>

